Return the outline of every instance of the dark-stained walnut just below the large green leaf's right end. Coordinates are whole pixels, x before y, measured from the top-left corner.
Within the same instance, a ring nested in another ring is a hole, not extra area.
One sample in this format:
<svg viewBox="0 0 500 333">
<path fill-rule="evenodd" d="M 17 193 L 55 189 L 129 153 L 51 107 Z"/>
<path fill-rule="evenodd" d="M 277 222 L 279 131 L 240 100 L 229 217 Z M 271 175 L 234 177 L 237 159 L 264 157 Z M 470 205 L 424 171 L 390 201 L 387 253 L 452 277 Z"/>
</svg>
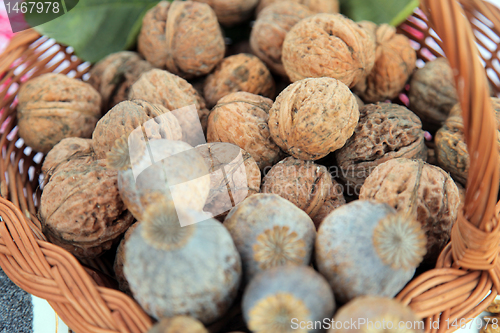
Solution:
<svg viewBox="0 0 500 333">
<path fill-rule="evenodd" d="M 130 86 L 151 69 L 149 62 L 130 51 L 113 53 L 95 64 L 88 83 L 101 94 L 103 113 L 127 100 Z"/>
</svg>

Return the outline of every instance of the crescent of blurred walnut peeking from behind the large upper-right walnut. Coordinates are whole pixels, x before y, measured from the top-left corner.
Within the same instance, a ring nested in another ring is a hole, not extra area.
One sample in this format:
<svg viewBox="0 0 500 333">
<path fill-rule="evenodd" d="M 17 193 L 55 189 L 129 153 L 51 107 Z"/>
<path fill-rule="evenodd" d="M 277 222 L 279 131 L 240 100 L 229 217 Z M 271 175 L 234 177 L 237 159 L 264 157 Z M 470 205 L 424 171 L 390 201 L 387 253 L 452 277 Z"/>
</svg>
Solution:
<svg viewBox="0 0 500 333">
<path fill-rule="evenodd" d="M 250 45 L 256 56 L 276 74 L 287 77 L 281 62 L 285 35 L 303 18 L 313 15 L 307 7 L 293 1 L 276 2 L 263 10 L 250 34 Z"/>
</svg>

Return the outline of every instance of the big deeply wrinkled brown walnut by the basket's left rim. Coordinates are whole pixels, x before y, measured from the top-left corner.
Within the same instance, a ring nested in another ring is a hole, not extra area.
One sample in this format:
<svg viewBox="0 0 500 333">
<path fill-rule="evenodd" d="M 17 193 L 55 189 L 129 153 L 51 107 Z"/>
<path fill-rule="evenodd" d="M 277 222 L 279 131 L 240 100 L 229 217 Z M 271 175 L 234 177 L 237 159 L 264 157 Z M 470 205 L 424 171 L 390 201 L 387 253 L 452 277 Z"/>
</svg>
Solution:
<svg viewBox="0 0 500 333">
<path fill-rule="evenodd" d="M 59 164 L 45 185 L 40 220 L 51 243 L 80 258 L 109 250 L 133 222 L 105 160 L 77 156 Z"/>
</svg>

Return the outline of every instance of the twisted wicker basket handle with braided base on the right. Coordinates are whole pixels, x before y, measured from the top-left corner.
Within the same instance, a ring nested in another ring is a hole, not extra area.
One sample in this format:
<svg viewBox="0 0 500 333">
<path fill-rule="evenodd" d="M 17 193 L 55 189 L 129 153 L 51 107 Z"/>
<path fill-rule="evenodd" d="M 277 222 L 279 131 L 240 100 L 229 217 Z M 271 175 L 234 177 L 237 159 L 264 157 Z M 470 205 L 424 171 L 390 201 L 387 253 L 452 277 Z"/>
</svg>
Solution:
<svg viewBox="0 0 500 333">
<path fill-rule="evenodd" d="M 429 26 L 440 36 L 454 72 L 470 166 L 465 202 L 451 242 L 436 268 L 410 282 L 397 299 L 425 318 L 426 332 L 451 332 L 457 329 L 451 323 L 472 320 L 500 290 L 497 122 L 464 8 L 483 14 L 498 29 L 500 12 L 481 0 L 422 0 L 421 8 Z"/>
</svg>

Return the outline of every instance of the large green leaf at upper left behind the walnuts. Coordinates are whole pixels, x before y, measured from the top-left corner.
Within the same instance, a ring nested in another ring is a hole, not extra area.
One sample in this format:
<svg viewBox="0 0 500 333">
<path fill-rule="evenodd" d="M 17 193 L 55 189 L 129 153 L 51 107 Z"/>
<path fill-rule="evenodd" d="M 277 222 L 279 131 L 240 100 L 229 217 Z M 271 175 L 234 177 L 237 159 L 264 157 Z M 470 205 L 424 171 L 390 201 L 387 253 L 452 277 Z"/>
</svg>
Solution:
<svg viewBox="0 0 500 333">
<path fill-rule="evenodd" d="M 40 34 L 70 45 L 82 60 L 95 63 L 132 47 L 146 12 L 159 0 L 80 0 L 66 14 L 34 27 Z M 40 17 L 26 14 L 35 26 Z"/>
</svg>

